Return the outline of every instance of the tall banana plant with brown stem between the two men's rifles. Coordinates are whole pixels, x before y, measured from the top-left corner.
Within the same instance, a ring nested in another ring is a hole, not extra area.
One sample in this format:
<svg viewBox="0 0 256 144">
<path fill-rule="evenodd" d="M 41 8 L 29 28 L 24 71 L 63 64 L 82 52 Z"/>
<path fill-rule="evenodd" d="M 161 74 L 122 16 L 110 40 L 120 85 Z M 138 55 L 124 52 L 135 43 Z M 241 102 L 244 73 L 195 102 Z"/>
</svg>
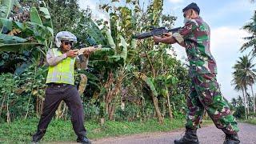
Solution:
<svg viewBox="0 0 256 144">
<path fill-rule="evenodd" d="M 130 22 L 130 19 L 121 19 L 118 15 L 121 14 L 122 18 L 130 18 L 130 10 L 126 7 L 120 7 L 118 10 L 120 10 L 120 13 L 110 13 L 110 25 L 108 25 L 108 22 L 100 21 L 96 24 L 92 20 L 83 25 L 90 38 L 94 39 L 97 44 L 105 45 L 110 49 L 105 55 L 98 54 L 102 53 L 102 50 L 98 50 L 90 58 L 90 63 L 95 68 L 101 69 L 99 71 L 105 71 L 103 76 L 106 75 L 106 77 L 102 78 L 99 94 L 104 97 L 103 103 L 106 114 L 110 119 L 113 119 L 116 105 L 113 101 L 118 98 L 123 79 L 130 74 L 130 68 L 128 68 L 130 62 L 137 54 L 135 50 L 136 40 L 131 38 L 131 34 L 126 34 L 132 22 Z M 125 15 L 127 17 L 124 17 Z M 127 37 L 127 35 L 130 35 L 130 37 Z"/>
</svg>

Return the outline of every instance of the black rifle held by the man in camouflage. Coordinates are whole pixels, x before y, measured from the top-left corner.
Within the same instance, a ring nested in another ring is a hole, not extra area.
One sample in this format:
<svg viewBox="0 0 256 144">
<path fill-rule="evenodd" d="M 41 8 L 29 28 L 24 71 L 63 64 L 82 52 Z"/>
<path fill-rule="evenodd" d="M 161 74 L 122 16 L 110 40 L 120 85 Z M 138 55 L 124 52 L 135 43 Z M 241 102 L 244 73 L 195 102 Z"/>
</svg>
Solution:
<svg viewBox="0 0 256 144">
<path fill-rule="evenodd" d="M 177 27 L 177 28 L 174 28 L 174 29 L 166 29 L 165 27 L 153 28 L 153 29 L 151 29 L 150 32 L 146 32 L 146 33 L 142 33 L 142 34 L 136 34 L 136 35 L 133 36 L 133 38 L 144 39 L 144 38 L 149 38 L 149 37 L 152 37 L 152 36 L 162 35 L 164 33 L 169 33 L 169 32 L 175 33 L 178 30 L 180 30 L 181 28 L 182 27 Z"/>
</svg>

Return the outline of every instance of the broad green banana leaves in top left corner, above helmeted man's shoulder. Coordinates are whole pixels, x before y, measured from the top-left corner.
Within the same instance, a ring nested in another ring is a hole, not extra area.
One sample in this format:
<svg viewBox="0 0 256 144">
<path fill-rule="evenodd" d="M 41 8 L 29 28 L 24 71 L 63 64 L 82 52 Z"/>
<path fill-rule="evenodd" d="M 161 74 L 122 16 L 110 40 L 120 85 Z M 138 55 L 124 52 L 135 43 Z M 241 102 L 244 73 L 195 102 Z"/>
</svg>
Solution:
<svg viewBox="0 0 256 144">
<path fill-rule="evenodd" d="M 46 54 L 46 50 L 43 50 L 42 47 L 47 49 L 46 47 L 52 45 L 54 34 L 49 11 L 46 6 L 32 7 L 30 9 L 30 22 L 17 22 L 9 18 L 13 6 L 15 3 L 17 5 L 17 2 L 3 0 L 1 3 L 1 7 L 4 9 L 2 9 L 0 17 L 0 51 L 19 52 L 38 48 L 38 51 Z M 4 29 L 10 33 L 3 34 Z M 15 33 L 11 33 L 13 31 Z"/>
</svg>

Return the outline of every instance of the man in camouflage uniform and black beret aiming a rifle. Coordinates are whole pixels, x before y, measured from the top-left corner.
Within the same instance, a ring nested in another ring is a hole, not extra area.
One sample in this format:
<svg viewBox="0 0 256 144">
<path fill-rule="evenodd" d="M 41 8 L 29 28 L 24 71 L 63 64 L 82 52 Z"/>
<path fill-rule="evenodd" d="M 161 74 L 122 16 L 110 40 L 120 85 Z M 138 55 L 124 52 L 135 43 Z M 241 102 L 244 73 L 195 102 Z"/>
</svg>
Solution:
<svg viewBox="0 0 256 144">
<path fill-rule="evenodd" d="M 223 98 L 216 80 L 217 66 L 210 54 L 210 27 L 199 17 L 200 9 L 191 3 L 183 10 L 184 24 L 178 33 L 154 36 L 154 42 L 179 45 L 186 48 L 190 62 L 190 95 L 187 98 L 188 113 L 186 134 L 175 144 L 199 143 L 196 130 L 202 123 L 204 110 L 215 126 L 226 134 L 224 144 L 239 143 L 238 124 Z"/>
</svg>

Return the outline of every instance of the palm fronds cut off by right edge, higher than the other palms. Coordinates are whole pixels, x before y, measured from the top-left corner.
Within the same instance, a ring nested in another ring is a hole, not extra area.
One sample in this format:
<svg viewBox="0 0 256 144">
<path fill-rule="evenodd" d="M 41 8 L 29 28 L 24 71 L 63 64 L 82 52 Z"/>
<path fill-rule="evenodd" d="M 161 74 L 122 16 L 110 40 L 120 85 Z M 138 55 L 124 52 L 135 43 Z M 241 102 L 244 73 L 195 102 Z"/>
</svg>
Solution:
<svg viewBox="0 0 256 144">
<path fill-rule="evenodd" d="M 251 18 L 251 21 L 246 23 L 245 26 L 242 26 L 242 29 L 249 32 L 251 36 L 244 38 L 247 42 L 242 45 L 240 50 L 244 51 L 252 48 L 252 50 L 250 50 L 250 54 L 254 56 L 256 54 L 256 10 L 254 11 L 254 16 Z"/>
</svg>

